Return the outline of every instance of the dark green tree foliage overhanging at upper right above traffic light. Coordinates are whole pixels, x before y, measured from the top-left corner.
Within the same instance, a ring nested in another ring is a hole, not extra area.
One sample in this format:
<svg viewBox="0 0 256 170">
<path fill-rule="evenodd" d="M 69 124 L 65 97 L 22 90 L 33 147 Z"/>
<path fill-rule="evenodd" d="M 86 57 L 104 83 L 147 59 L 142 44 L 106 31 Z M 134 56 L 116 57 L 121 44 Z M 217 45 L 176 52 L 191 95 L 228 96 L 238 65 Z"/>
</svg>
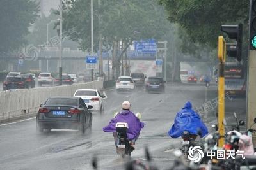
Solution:
<svg viewBox="0 0 256 170">
<path fill-rule="evenodd" d="M 249 1 L 159 0 L 159 4 L 168 12 L 168 20 L 179 23 L 193 43 L 216 46 L 223 24 L 241 22 L 248 31 Z"/>
</svg>

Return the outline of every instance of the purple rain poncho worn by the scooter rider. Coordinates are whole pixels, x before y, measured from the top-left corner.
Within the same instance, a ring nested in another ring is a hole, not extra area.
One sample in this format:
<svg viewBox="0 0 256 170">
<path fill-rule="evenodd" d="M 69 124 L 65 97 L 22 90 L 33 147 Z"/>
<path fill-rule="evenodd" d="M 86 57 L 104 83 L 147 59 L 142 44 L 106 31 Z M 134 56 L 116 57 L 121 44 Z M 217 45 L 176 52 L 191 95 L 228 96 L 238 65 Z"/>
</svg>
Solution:
<svg viewBox="0 0 256 170">
<path fill-rule="evenodd" d="M 103 128 L 104 132 L 116 132 L 116 123 L 117 122 L 126 122 L 128 124 L 127 137 L 129 140 L 138 138 L 140 135 L 141 129 L 144 127 L 144 123 L 129 110 L 122 110 L 116 115 L 115 118 L 112 118 L 109 124 Z"/>
</svg>

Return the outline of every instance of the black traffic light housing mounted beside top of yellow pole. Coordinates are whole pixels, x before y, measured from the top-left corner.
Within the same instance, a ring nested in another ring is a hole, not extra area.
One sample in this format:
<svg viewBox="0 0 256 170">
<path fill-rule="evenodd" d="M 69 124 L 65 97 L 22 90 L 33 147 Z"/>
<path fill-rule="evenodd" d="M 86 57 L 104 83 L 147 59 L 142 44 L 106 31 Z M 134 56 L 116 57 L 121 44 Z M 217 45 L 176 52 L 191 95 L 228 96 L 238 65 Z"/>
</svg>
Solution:
<svg viewBox="0 0 256 170">
<path fill-rule="evenodd" d="M 228 34 L 229 39 L 234 39 L 237 41 L 234 44 L 227 44 L 228 56 L 236 57 L 236 59 L 238 61 L 241 61 L 241 59 L 242 59 L 243 24 L 221 25 L 221 31 Z M 255 39 L 255 45 L 256 45 L 256 39 Z"/>
</svg>

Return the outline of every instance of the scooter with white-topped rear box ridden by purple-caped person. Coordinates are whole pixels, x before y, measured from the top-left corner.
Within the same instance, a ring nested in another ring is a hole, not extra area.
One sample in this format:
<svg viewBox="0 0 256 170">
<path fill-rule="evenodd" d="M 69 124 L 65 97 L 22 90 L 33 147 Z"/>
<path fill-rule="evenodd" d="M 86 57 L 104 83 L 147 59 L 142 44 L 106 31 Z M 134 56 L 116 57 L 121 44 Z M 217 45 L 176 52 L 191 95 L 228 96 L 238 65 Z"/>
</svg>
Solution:
<svg viewBox="0 0 256 170">
<path fill-rule="evenodd" d="M 116 133 L 118 135 L 118 143 L 116 146 L 116 153 L 121 155 L 122 158 L 125 155 L 131 156 L 134 147 L 131 146 L 131 141 L 127 137 L 128 124 L 125 122 L 116 123 Z"/>
</svg>

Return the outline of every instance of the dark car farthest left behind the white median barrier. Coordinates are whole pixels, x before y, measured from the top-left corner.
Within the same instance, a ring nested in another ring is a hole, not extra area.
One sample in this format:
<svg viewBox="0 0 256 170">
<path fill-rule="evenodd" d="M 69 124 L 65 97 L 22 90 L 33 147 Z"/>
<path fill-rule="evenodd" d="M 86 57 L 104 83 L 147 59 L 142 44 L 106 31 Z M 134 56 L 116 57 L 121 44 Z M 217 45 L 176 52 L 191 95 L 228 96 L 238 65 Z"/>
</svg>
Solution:
<svg viewBox="0 0 256 170">
<path fill-rule="evenodd" d="M 21 76 L 8 76 L 3 82 L 3 90 L 24 88 L 28 88 L 28 85 L 25 83 L 24 79 Z"/>
</svg>

